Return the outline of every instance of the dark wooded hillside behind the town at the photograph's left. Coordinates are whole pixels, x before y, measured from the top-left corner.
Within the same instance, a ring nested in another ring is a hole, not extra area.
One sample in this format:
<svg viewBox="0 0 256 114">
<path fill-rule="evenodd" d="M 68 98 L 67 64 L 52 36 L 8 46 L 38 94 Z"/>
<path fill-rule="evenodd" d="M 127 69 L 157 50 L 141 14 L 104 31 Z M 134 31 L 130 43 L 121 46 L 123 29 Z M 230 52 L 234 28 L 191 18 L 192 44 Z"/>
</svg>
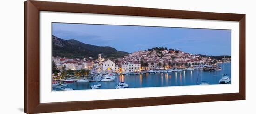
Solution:
<svg viewBox="0 0 256 114">
<path fill-rule="evenodd" d="M 95 46 L 85 44 L 80 41 L 71 39 L 64 40 L 52 35 L 52 56 L 61 56 L 68 58 L 98 58 L 98 54 L 103 54 L 102 57 L 115 59 L 128 55 L 127 52 L 118 51 L 112 47 Z"/>
</svg>

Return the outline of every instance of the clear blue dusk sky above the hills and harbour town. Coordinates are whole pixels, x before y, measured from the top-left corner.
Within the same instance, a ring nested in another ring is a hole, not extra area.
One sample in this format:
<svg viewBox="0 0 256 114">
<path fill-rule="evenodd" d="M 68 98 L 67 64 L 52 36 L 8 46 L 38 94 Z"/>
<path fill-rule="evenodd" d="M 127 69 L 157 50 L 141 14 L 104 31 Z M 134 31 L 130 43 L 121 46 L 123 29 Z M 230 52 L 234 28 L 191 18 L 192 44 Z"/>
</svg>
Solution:
<svg viewBox="0 0 256 114">
<path fill-rule="evenodd" d="M 231 30 L 53 23 L 52 34 L 129 53 L 167 47 L 192 54 L 231 55 Z"/>
</svg>

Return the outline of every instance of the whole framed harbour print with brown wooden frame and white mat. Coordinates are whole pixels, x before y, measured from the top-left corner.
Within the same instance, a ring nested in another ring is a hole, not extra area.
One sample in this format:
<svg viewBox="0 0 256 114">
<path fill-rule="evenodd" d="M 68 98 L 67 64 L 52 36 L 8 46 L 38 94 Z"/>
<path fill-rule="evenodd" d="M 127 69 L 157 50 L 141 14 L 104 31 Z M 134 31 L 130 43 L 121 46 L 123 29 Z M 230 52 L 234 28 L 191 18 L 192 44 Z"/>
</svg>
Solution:
<svg viewBox="0 0 256 114">
<path fill-rule="evenodd" d="M 28 114 L 245 99 L 245 14 L 24 4 Z"/>
</svg>

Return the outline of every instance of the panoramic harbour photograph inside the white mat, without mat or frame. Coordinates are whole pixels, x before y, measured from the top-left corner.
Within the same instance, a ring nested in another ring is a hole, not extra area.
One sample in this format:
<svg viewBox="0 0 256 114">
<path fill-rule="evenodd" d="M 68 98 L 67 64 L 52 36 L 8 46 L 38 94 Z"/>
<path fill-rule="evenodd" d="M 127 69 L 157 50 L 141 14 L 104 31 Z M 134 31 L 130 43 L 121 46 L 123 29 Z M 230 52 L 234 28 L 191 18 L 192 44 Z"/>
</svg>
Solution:
<svg viewBox="0 0 256 114">
<path fill-rule="evenodd" d="M 52 22 L 52 91 L 231 84 L 231 30 Z"/>
</svg>

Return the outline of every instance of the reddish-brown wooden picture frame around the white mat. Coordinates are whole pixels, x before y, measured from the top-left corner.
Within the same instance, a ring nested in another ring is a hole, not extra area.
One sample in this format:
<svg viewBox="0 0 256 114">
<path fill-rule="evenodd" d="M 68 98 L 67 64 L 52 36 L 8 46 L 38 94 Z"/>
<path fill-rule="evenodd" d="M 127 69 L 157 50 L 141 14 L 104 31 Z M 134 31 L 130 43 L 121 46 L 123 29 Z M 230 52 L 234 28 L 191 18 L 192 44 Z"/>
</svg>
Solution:
<svg viewBox="0 0 256 114">
<path fill-rule="evenodd" d="M 237 21 L 239 22 L 239 93 L 40 103 L 39 11 Z M 231 100 L 245 100 L 245 14 L 210 13 L 30 0 L 25 1 L 24 3 L 24 112 L 27 114 Z"/>
</svg>

